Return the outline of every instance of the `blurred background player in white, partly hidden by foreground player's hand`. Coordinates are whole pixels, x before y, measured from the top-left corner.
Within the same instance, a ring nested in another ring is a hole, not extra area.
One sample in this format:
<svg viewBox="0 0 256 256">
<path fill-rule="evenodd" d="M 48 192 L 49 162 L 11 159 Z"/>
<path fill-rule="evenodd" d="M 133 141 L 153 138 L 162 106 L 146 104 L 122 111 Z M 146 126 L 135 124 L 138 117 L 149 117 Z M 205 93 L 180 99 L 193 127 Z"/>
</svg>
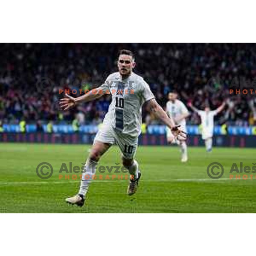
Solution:
<svg viewBox="0 0 256 256">
<path fill-rule="evenodd" d="M 171 92 L 168 94 L 169 101 L 166 103 L 166 113 L 172 117 L 176 125 L 180 125 L 182 131 L 186 132 L 186 118 L 189 116 L 189 111 L 183 102 L 177 99 L 177 93 Z M 185 163 L 188 160 L 186 140 L 180 138 L 173 140 L 172 131 L 167 127 L 166 137 L 168 143 L 176 143 L 181 149 L 181 162 Z"/>
</svg>

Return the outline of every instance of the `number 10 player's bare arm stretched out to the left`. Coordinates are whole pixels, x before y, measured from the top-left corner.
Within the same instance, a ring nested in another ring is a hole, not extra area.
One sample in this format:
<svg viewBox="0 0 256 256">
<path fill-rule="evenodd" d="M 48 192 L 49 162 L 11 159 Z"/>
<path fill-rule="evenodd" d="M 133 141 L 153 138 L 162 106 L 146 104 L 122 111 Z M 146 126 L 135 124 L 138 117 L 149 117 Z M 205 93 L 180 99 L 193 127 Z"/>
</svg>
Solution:
<svg viewBox="0 0 256 256">
<path fill-rule="evenodd" d="M 89 93 L 86 93 L 80 97 L 74 98 L 69 96 L 68 94 L 65 94 L 66 98 L 61 99 L 59 105 L 60 107 L 65 111 L 68 110 L 69 108 L 72 108 L 75 106 L 77 103 L 80 102 L 89 102 L 94 99 L 98 99 L 103 96 L 102 89 L 96 88 L 93 90 L 90 90 Z"/>
</svg>

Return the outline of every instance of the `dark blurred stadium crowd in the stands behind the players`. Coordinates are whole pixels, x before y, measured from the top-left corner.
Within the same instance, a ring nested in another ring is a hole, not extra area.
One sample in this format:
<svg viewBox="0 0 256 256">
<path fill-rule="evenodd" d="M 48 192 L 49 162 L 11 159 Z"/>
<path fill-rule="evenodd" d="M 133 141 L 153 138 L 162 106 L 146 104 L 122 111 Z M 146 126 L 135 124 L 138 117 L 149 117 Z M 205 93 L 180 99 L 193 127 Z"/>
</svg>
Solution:
<svg viewBox="0 0 256 256">
<path fill-rule="evenodd" d="M 63 112 L 59 89 L 92 89 L 115 72 L 120 49 L 135 53 L 134 72 L 144 77 L 165 107 L 168 93 L 196 108 L 217 108 L 225 100 L 218 124 L 253 125 L 256 94 L 232 94 L 230 88 L 256 89 L 256 44 L 0 44 L 0 122 L 99 124 L 110 96 Z M 249 85 L 248 85 L 249 84 Z M 75 95 L 79 96 L 79 95 Z M 143 108 L 143 122 L 158 123 Z M 190 124 L 198 124 L 192 113 Z"/>
</svg>

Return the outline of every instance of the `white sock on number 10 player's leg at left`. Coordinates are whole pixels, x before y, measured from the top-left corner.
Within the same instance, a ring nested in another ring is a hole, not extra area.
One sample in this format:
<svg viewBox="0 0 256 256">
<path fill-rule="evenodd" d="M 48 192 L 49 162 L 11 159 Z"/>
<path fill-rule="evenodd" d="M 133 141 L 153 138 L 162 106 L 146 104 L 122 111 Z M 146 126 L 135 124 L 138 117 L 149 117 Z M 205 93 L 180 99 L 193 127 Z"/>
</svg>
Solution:
<svg viewBox="0 0 256 256">
<path fill-rule="evenodd" d="M 96 172 L 97 162 L 87 159 L 84 165 L 84 172 L 82 173 L 82 179 L 80 183 L 79 194 L 85 195 L 89 189 L 89 183 L 92 180 L 93 175 Z"/>
</svg>

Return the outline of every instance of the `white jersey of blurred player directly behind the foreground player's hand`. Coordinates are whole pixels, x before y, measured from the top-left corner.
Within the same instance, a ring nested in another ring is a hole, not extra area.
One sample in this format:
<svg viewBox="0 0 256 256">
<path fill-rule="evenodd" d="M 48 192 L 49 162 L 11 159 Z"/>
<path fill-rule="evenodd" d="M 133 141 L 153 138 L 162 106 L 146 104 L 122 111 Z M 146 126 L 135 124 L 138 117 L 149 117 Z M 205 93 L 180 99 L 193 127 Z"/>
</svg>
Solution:
<svg viewBox="0 0 256 256">
<path fill-rule="evenodd" d="M 178 99 L 175 99 L 175 102 L 169 101 L 166 103 L 166 112 L 168 116 L 172 116 L 172 118 L 177 118 L 181 114 L 189 113 L 188 109 L 184 105 L 183 102 L 181 102 Z M 182 119 L 179 123 L 176 125 L 185 126 L 186 125 L 186 119 Z"/>
</svg>

